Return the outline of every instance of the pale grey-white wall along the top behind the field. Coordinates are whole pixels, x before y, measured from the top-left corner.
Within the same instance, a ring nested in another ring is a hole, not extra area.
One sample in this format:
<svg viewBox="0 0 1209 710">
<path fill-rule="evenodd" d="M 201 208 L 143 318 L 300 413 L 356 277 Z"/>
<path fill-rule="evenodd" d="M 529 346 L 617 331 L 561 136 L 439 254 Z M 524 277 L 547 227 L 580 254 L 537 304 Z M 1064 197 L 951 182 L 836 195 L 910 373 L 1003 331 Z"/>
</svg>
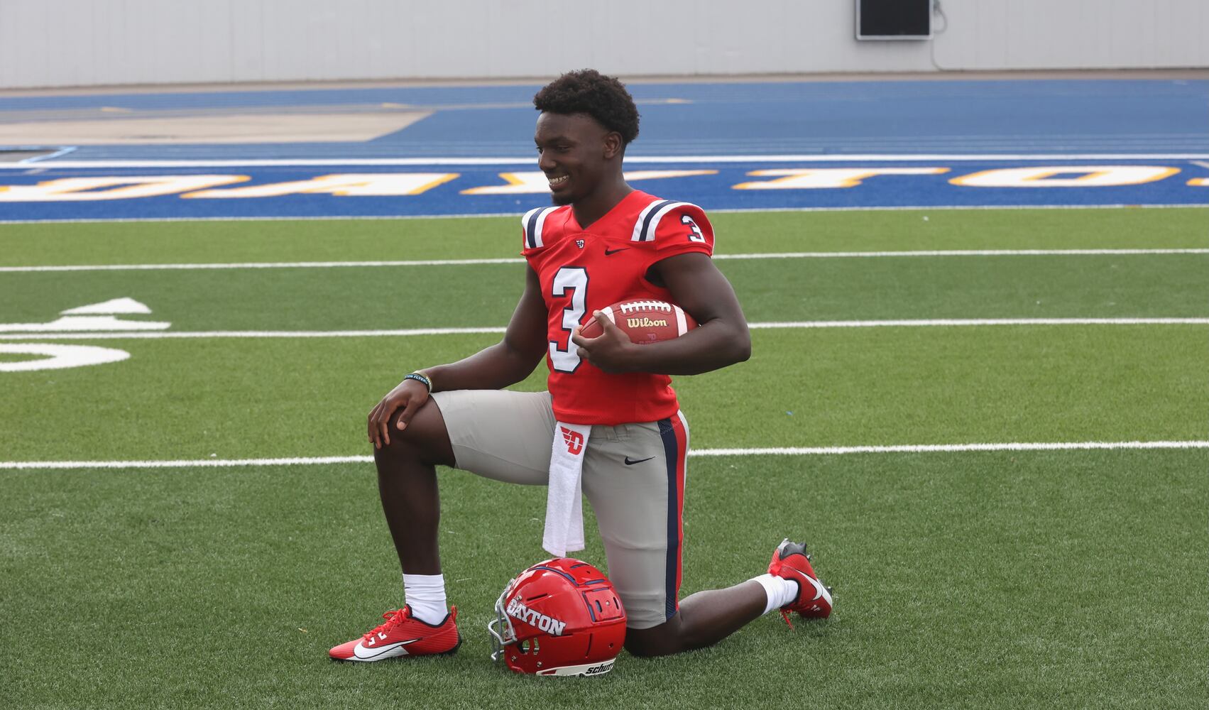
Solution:
<svg viewBox="0 0 1209 710">
<path fill-rule="evenodd" d="M 931 41 L 857 41 L 855 2 L 0 0 L 0 88 L 1209 67 L 1209 0 L 943 0 Z"/>
</svg>

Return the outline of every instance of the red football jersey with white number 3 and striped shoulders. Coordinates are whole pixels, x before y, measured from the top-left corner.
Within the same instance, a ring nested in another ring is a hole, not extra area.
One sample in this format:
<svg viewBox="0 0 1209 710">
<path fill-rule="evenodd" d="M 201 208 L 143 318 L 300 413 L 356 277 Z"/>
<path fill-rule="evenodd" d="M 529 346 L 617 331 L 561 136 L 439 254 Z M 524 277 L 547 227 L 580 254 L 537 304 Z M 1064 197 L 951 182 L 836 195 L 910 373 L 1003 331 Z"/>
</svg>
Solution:
<svg viewBox="0 0 1209 710">
<path fill-rule="evenodd" d="M 577 425 L 652 422 L 679 409 L 667 375 L 608 374 L 580 360 L 571 330 L 592 311 L 627 299 L 670 301 L 644 278 L 650 266 L 688 252 L 713 254 L 713 227 L 688 202 L 634 191 L 588 229 L 571 206 L 540 207 L 521 220 L 521 254 L 542 282 L 548 312 L 548 387 L 559 421 Z"/>
</svg>

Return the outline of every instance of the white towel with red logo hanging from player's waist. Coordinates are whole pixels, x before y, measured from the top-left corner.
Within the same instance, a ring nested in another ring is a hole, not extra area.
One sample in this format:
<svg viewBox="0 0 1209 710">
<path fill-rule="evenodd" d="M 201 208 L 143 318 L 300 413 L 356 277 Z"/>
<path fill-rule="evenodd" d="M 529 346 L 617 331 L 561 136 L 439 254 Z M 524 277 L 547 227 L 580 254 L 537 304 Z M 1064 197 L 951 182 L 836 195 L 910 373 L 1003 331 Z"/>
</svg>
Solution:
<svg viewBox="0 0 1209 710">
<path fill-rule="evenodd" d="M 542 547 L 556 558 L 584 549 L 584 454 L 591 432 L 591 425 L 554 425 Z"/>
</svg>

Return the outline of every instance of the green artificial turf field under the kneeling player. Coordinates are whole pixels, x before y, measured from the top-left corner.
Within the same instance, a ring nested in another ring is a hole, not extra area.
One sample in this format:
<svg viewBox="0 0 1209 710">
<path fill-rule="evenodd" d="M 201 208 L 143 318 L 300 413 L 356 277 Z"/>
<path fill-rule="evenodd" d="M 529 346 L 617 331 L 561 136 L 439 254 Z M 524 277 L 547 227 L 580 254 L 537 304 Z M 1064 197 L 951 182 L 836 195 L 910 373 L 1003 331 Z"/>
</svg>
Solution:
<svg viewBox="0 0 1209 710">
<path fill-rule="evenodd" d="M 924 219 L 924 218 L 927 219 Z M 1209 248 L 1209 210 L 715 215 L 718 253 Z M 515 256 L 514 219 L 0 225 L 0 266 Z M 1204 318 L 1209 255 L 730 259 L 752 323 Z M 11 340 L 120 363 L 0 371 L 0 464 L 354 456 L 411 369 L 492 334 L 517 264 L 0 272 L 0 323 L 115 298 L 197 337 Z M 226 336 L 216 336 L 218 331 Z M 233 333 L 232 333 L 233 331 Z M 242 336 L 233 336 L 242 334 Z M 29 359 L 0 354 L 0 362 Z M 522 387 L 543 386 L 536 373 Z M 753 330 L 677 379 L 707 449 L 1209 440 L 1209 325 Z M 503 584 L 542 559 L 545 492 L 444 472 L 457 656 L 337 665 L 401 601 L 372 464 L 0 468 L 0 698 L 15 708 L 1203 708 L 1209 450 L 694 457 L 686 594 L 806 539 L 835 613 L 623 654 L 592 681 L 487 658 Z M 591 520 L 589 530 L 594 527 Z M 604 564 L 591 539 L 583 558 Z"/>
</svg>

